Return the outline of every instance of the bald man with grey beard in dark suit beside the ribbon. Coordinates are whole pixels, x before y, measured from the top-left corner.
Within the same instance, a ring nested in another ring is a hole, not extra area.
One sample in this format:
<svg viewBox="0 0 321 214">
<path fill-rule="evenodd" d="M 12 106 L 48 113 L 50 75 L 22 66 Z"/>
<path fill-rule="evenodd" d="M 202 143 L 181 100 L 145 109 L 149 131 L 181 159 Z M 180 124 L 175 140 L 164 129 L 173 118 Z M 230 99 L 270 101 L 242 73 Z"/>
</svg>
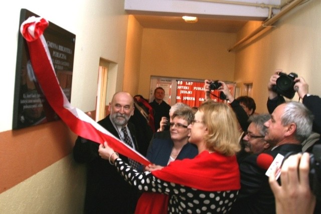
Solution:
<svg viewBox="0 0 321 214">
<path fill-rule="evenodd" d="M 124 139 L 121 128 L 125 127 L 134 149 L 141 152 L 140 147 L 143 146 L 137 144 L 135 128 L 128 122 L 134 112 L 133 97 L 127 92 L 115 93 L 108 110 L 110 114 L 98 123 L 121 140 Z M 78 137 L 73 148 L 74 159 L 79 163 L 87 164 L 84 212 L 133 213 L 138 198 L 137 190 L 124 181 L 108 160 L 99 156 L 98 147 L 98 143 Z M 127 157 L 120 156 L 122 160 L 129 163 Z"/>
</svg>

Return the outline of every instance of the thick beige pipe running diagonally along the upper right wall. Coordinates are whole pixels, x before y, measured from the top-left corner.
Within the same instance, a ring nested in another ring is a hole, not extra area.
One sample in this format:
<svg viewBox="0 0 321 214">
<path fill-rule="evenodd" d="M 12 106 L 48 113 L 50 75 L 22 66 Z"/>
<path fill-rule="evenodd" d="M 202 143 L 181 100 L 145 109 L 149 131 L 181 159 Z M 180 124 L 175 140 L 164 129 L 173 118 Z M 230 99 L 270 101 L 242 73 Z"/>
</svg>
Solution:
<svg viewBox="0 0 321 214">
<path fill-rule="evenodd" d="M 251 34 L 249 34 L 248 36 L 244 37 L 243 39 L 241 39 L 240 41 L 238 41 L 237 43 L 235 43 L 231 48 L 229 48 L 227 51 L 230 52 L 232 50 L 234 50 L 236 47 L 240 46 L 241 44 L 243 44 L 244 42 L 248 41 L 249 39 L 251 39 L 252 37 L 254 37 L 255 35 L 257 35 L 259 32 L 261 32 L 263 29 L 267 28 L 267 27 L 273 27 L 272 25 L 278 21 L 282 16 L 284 16 L 285 14 L 287 14 L 289 11 L 291 11 L 294 7 L 296 7 L 297 5 L 299 5 L 301 2 L 303 2 L 303 0 L 294 0 L 291 3 L 289 3 L 288 5 L 286 5 L 285 7 L 281 8 L 281 11 L 276 14 L 274 17 L 267 19 L 265 21 L 262 22 L 262 25 L 260 27 L 258 27 L 256 30 L 254 30 Z"/>
</svg>

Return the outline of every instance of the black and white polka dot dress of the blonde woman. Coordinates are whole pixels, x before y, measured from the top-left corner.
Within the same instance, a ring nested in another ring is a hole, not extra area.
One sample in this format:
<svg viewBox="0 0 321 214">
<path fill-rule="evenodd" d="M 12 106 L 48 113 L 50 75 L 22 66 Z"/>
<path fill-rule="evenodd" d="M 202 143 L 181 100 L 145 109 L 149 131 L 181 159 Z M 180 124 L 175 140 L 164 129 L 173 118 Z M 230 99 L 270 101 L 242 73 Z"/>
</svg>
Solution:
<svg viewBox="0 0 321 214">
<path fill-rule="evenodd" d="M 238 193 L 237 190 L 203 191 L 166 182 L 148 171 L 137 172 L 120 158 L 115 160 L 115 166 L 125 180 L 139 190 L 168 194 L 169 213 L 228 213 Z"/>
</svg>

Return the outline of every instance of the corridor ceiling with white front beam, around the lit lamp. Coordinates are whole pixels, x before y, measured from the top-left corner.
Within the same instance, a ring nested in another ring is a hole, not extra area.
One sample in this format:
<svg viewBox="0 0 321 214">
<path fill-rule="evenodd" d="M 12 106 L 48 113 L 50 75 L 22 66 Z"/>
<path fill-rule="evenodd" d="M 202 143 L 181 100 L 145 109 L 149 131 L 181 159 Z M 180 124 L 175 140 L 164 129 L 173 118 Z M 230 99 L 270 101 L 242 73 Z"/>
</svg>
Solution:
<svg viewBox="0 0 321 214">
<path fill-rule="evenodd" d="M 219 2 L 219 3 L 217 3 Z M 269 9 L 262 7 L 279 6 L 280 0 L 125 0 L 124 9 L 134 15 L 143 28 L 238 32 L 248 21 L 264 21 Z M 227 4 L 229 3 L 229 4 Z M 234 4 L 236 3 L 236 4 Z M 247 6 L 255 4 L 256 7 Z M 274 14 L 279 9 L 273 9 Z M 197 23 L 185 23 L 182 16 L 197 16 Z"/>
</svg>

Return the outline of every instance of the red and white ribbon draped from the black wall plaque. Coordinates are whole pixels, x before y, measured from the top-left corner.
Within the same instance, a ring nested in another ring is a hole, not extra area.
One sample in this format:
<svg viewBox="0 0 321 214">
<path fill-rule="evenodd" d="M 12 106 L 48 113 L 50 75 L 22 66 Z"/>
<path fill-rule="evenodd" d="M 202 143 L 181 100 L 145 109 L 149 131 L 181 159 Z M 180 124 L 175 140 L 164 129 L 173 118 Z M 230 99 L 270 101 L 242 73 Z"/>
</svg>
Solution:
<svg viewBox="0 0 321 214">
<path fill-rule="evenodd" d="M 59 86 L 43 36 L 48 25 L 49 22 L 44 18 L 30 17 L 20 28 L 21 34 L 27 40 L 32 67 L 48 103 L 75 134 L 97 143 L 106 141 L 115 151 L 143 165 L 148 165 L 150 162 L 144 156 L 113 136 L 84 112 L 70 105 Z"/>
</svg>

